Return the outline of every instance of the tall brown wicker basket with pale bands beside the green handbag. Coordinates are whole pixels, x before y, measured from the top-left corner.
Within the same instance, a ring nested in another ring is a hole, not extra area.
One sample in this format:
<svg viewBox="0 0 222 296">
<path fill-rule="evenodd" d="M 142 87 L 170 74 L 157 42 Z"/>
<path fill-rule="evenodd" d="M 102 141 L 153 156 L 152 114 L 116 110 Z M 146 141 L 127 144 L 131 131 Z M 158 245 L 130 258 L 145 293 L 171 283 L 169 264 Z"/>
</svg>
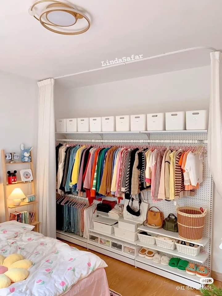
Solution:
<svg viewBox="0 0 222 296">
<path fill-rule="evenodd" d="M 190 241 L 200 241 L 203 236 L 206 214 L 207 210 L 203 213 L 199 208 L 177 208 L 179 237 Z"/>
</svg>

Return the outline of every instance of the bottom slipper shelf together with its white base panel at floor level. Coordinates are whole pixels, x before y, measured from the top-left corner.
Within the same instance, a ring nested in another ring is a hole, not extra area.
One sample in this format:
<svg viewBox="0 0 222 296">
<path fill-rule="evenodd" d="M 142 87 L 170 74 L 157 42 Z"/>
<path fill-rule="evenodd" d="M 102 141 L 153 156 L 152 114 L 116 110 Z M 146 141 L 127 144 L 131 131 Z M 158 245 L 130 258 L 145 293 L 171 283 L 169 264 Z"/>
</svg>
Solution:
<svg viewBox="0 0 222 296">
<path fill-rule="evenodd" d="M 139 263 L 142 263 L 142 265 Z M 166 272 L 167 276 L 160 274 L 159 272 L 158 274 L 165 276 L 167 278 L 171 278 L 172 280 L 177 282 L 181 282 L 182 280 L 183 281 L 182 283 L 184 284 L 187 284 L 187 280 L 192 281 L 193 287 L 196 289 L 199 289 L 199 287 L 201 286 L 200 278 L 198 278 L 197 276 L 189 275 L 186 273 L 186 271 L 181 271 L 178 269 L 171 268 L 169 265 L 162 265 L 161 263 L 155 263 L 153 260 L 148 260 L 144 257 L 137 256 L 135 259 L 135 266 L 141 267 L 151 272 L 154 272 L 154 271 L 152 271 L 152 269 L 150 270 L 149 267 L 158 269 L 160 273 Z M 171 277 L 169 277 L 170 274 L 171 274 Z"/>
</svg>

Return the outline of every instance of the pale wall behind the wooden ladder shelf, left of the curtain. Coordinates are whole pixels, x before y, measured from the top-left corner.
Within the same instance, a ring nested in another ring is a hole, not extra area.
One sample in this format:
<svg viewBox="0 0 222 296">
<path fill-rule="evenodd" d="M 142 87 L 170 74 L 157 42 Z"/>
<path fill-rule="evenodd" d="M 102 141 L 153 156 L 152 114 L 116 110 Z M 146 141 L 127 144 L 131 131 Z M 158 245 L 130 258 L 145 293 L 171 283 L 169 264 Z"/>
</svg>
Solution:
<svg viewBox="0 0 222 296">
<path fill-rule="evenodd" d="M 24 143 L 25 148 L 33 146 L 34 165 L 37 149 L 37 96 L 38 88 L 36 81 L 0 72 L 0 150 L 4 149 L 6 153 L 17 152 L 20 154 L 21 143 Z M 1 163 L 0 222 L 3 222 L 5 221 L 5 211 Z M 15 165 L 9 166 L 6 169 L 11 171 L 17 170 L 17 179 L 20 179 L 19 170 L 26 168 L 24 166 Z M 8 187 L 8 194 L 14 189 L 14 186 L 16 185 Z M 27 187 L 28 185 L 20 185 L 25 194 L 28 190 Z"/>
</svg>

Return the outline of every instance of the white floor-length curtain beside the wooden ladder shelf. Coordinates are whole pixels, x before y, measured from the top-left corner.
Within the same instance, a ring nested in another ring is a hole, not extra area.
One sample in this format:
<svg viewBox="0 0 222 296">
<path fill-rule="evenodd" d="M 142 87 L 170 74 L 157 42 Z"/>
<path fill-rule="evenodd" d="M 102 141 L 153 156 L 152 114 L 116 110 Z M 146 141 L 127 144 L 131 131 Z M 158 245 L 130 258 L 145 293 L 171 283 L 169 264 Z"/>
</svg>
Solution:
<svg viewBox="0 0 222 296">
<path fill-rule="evenodd" d="M 36 192 L 39 199 L 40 232 L 56 236 L 55 226 L 55 119 L 54 79 L 38 82 L 39 121 Z"/>
</svg>

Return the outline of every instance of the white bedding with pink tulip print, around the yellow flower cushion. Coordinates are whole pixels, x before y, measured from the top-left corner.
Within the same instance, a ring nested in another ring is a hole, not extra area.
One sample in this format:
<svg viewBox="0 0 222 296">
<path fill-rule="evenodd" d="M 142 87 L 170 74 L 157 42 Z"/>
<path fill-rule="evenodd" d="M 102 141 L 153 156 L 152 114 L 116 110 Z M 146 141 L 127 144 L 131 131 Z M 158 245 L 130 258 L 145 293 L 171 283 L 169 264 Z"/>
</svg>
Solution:
<svg viewBox="0 0 222 296">
<path fill-rule="evenodd" d="M 22 225 L 22 226 L 21 226 Z M 33 262 L 26 280 L 0 289 L 0 295 L 59 296 L 106 263 L 98 256 L 31 231 L 27 224 L 0 224 L 0 254 L 22 254 Z"/>
</svg>

